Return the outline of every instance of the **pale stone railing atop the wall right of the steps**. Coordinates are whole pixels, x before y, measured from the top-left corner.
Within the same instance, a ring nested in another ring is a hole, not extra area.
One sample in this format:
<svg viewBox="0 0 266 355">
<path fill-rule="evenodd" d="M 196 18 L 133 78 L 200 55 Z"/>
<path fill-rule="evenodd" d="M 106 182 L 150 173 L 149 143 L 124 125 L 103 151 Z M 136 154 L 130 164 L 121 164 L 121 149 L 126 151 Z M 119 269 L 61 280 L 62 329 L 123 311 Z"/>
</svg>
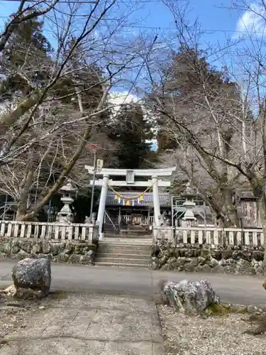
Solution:
<svg viewBox="0 0 266 355">
<path fill-rule="evenodd" d="M 154 241 L 167 240 L 175 244 L 264 245 L 262 229 L 162 227 L 155 228 L 153 235 Z"/>
</svg>

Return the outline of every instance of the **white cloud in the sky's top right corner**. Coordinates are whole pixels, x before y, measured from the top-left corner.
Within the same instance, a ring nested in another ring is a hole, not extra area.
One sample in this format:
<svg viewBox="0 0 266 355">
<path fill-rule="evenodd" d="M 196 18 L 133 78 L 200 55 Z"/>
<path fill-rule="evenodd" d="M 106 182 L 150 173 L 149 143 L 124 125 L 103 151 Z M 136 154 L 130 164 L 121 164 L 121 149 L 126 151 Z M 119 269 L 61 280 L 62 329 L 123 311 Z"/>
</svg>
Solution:
<svg viewBox="0 0 266 355">
<path fill-rule="evenodd" d="M 266 34 L 266 23 L 262 18 L 266 14 L 265 8 L 255 3 L 250 4 L 249 7 L 250 10 L 245 11 L 238 19 L 235 35 L 240 35 L 239 32 Z"/>
</svg>

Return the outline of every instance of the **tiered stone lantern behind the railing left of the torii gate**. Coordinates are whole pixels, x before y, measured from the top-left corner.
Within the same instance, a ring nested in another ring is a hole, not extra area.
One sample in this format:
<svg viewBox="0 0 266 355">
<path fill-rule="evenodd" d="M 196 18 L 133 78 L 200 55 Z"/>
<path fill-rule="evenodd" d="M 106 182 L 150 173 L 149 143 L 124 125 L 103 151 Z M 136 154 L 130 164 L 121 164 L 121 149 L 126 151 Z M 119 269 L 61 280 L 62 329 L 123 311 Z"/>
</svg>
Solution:
<svg viewBox="0 0 266 355">
<path fill-rule="evenodd" d="M 70 204 L 74 202 L 73 197 L 76 195 L 76 188 L 73 187 L 70 180 L 67 180 L 67 185 L 60 188 L 62 194 L 61 201 L 64 204 L 60 212 L 57 213 L 57 222 L 59 223 L 72 223 L 74 215 L 70 208 Z"/>
</svg>

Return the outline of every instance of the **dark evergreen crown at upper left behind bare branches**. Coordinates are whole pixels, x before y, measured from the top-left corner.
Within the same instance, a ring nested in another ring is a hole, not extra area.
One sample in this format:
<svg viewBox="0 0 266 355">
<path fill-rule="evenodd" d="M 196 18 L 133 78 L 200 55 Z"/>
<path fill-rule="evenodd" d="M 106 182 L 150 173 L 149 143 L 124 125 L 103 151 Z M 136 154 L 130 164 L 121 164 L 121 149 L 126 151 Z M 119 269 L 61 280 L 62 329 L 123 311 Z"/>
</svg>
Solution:
<svg viewBox="0 0 266 355">
<path fill-rule="evenodd" d="M 13 32 L 1 55 L 0 99 L 12 99 L 14 94 L 30 94 L 41 87 L 52 67 L 49 55 L 52 46 L 43 35 L 43 22 L 31 19 Z"/>
</svg>

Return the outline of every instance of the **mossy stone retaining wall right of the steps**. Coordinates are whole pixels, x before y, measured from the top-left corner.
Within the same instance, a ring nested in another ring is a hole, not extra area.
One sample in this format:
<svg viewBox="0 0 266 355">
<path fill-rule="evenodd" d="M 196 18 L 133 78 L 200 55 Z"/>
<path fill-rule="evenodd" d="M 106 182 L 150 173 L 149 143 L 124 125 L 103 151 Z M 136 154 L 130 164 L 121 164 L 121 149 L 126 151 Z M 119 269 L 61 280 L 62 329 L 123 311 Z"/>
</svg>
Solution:
<svg viewBox="0 0 266 355">
<path fill-rule="evenodd" d="M 263 275 L 262 246 L 161 244 L 153 246 L 153 270 Z"/>
</svg>

